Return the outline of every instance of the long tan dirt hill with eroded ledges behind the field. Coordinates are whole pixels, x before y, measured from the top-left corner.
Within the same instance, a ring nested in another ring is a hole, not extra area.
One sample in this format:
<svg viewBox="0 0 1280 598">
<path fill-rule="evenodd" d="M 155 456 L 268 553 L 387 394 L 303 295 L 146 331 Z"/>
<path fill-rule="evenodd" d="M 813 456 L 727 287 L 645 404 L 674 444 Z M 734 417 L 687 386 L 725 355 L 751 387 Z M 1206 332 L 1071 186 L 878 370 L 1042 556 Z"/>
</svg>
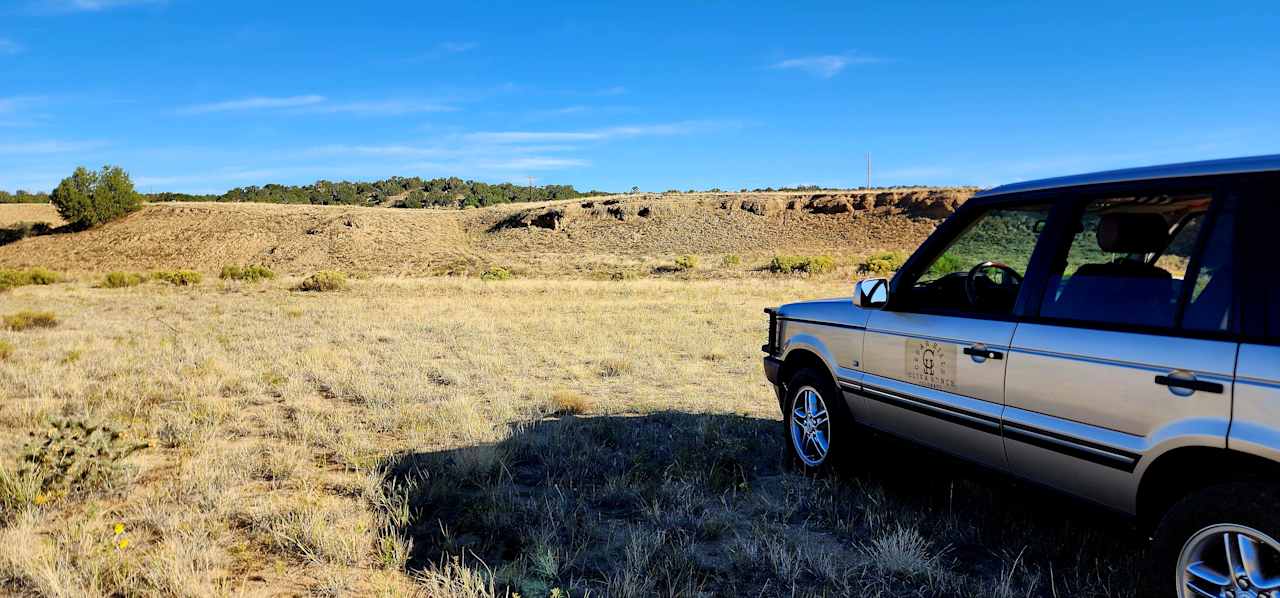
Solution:
<svg viewBox="0 0 1280 598">
<path fill-rule="evenodd" d="M 253 263 L 291 274 L 407 275 L 504 264 L 559 274 L 677 254 L 863 255 L 915 247 L 972 192 L 626 195 L 476 210 L 154 204 L 93 230 L 3 246 L 0 266 L 218 271 Z M 55 219 L 49 206 L 0 206 L 0 225 Z"/>
</svg>

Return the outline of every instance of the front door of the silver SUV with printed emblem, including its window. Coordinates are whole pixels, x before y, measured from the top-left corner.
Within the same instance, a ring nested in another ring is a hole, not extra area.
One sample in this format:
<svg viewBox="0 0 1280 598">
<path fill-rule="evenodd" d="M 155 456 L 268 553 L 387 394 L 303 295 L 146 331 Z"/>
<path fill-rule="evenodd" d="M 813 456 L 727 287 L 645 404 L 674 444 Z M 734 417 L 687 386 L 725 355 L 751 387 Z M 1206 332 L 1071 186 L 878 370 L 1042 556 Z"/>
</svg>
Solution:
<svg viewBox="0 0 1280 598">
<path fill-rule="evenodd" d="M 910 260 L 868 319 L 858 392 L 868 425 L 1005 467 L 1005 353 L 1048 213 L 1044 204 L 973 207 Z"/>
</svg>

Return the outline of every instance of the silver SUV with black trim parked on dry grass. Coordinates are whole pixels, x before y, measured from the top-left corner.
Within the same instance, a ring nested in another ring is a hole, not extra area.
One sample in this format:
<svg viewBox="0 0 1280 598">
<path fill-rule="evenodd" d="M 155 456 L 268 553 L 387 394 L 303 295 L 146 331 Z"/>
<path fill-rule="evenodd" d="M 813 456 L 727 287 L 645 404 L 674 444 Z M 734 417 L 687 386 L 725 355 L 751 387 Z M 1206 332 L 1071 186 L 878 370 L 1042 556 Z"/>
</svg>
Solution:
<svg viewBox="0 0 1280 598">
<path fill-rule="evenodd" d="M 868 428 L 1134 515 L 1153 595 L 1280 598 L 1280 155 L 1016 183 L 769 314 L 790 452 Z"/>
</svg>

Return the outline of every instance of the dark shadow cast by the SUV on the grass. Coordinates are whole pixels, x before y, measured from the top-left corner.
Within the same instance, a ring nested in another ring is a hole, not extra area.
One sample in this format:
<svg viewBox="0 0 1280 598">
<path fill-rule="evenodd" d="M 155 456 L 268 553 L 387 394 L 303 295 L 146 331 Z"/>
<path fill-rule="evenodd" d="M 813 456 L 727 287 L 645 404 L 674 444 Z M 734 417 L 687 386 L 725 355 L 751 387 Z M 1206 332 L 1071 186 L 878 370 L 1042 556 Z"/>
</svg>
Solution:
<svg viewBox="0 0 1280 598">
<path fill-rule="evenodd" d="M 461 557 L 525 597 L 1133 593 L 1123 520 L 883 438 L 814 479 L 783 442 L 735 415 L 548 419 L 398 456 L 385 484 L 410 570 Z"/>
</svg>

